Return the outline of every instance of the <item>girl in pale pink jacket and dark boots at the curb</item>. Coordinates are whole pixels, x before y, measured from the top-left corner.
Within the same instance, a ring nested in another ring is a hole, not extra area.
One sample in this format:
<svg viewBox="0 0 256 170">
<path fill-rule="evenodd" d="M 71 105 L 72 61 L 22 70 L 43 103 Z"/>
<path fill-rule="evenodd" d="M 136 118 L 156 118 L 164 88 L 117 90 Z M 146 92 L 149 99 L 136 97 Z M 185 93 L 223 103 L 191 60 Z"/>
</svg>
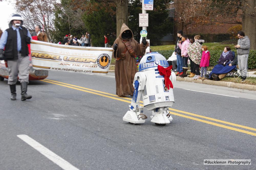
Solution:
<svg viewBox="0 0 256 170">
<path fill-rule="evenodd" d="M 179 44 L 179 48 L 181 49 L 181 56 L 183 59 L 183 75 L 179 75 L 179 77 L 187 77 L 187 71 L 188 71 L 188 45 L 190 43 L 189 39 L 187 39 L 186 35 L 183 35 L 181 37 L 181 40 L 183 43 Z"/>
</svg>

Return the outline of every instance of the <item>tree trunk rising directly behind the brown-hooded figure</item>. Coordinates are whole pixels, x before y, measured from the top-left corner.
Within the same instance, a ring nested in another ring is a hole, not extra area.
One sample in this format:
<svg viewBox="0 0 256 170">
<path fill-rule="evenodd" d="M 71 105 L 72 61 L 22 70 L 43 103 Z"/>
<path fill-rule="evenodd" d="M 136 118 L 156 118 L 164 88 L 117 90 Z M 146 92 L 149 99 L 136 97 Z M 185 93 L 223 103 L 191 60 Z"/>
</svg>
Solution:
<svg viewBox="0 0 256 170">
<path fill-rule="evenodd" d="M 123 23 L 128 26 L 128 0 L 116 0 L 116 37 L 119 36 Z"/>
</svg>

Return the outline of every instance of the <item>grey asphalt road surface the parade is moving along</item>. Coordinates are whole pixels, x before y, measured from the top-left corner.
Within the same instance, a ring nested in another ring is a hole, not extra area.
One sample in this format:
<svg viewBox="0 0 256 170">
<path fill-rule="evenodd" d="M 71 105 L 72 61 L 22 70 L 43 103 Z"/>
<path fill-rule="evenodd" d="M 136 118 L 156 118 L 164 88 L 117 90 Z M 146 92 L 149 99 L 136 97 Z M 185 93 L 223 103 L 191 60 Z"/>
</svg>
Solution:
<svg viewBox="0 0 256 170">
<path fill-rule="evenodd" d="M 122 120 L 131 98 L 115 95 L 113 75 L 49 72 L 47 80 L 30 82 L 26 101 L 20 85 L 15 101 L 6 80 L 0 87 L 0 170 L 256 169 L 255 91 L 176 82 L 173 121 L 159 127 L 150 118 L 138 125 Z M 31 138 L 45 154 L 28 144 Z"/>
</svg>

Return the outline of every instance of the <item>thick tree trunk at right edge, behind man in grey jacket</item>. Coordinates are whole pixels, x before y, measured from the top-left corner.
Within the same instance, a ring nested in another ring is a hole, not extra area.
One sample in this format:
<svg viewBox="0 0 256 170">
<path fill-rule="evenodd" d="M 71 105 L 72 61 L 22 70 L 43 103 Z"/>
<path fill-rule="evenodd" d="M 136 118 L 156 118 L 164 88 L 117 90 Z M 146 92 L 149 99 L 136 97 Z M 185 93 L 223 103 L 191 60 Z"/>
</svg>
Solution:
<svg viewBox="0 0 256 170">
<path fill-rule="evenodd" d="M 250 39 L 250 49 L 256 50 L 256 16 L 254 7 L 256 6 L 256 0 L 244 0 L 243 1 L 243 17 L 242 17 L 242 29 L 246 36 Z M 252 15 L 252 13 L 254 13 Z"/>
</svg>

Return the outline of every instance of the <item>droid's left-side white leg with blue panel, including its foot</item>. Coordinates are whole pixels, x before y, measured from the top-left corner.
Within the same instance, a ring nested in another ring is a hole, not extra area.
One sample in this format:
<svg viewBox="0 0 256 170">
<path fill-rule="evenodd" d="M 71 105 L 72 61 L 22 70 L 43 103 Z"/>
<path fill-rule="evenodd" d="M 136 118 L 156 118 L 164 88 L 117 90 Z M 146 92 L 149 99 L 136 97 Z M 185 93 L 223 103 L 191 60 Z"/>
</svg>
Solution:
<svg viewBox="0 0 256 170">
<path fill-rule="evenodd" d="M 143 108 L 140 106 L 140 98 L 143 93 L 145 86 L 146 77 L 144 74 L 136 73 L 134 79 L 134 92 L 131 105 L 129 105 L 130 110 L 126 112 L 123 117 L 123 121 L 130 123 L 144 123 L 147 116 L 143 114 Z"/>
</svg>

